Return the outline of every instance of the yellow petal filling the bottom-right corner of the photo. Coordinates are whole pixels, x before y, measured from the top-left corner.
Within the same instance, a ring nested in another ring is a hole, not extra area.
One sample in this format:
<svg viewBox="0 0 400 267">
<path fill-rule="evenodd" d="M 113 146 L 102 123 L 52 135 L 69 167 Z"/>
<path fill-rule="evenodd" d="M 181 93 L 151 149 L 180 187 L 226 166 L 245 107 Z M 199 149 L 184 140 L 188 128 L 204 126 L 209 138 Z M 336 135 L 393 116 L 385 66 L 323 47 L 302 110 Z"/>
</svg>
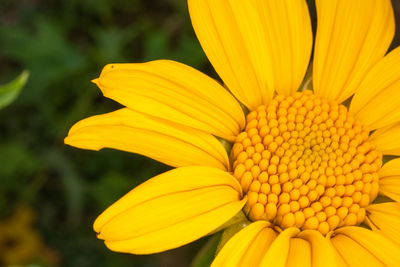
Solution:
<svg viewBox="0 0 400 267">
<path fill-rule="evenodd" d="M 363 227 L 339 228 L 331 242 L 349 266 L 397 266 L 400 262 L 396 243 Z"/>
</svg>

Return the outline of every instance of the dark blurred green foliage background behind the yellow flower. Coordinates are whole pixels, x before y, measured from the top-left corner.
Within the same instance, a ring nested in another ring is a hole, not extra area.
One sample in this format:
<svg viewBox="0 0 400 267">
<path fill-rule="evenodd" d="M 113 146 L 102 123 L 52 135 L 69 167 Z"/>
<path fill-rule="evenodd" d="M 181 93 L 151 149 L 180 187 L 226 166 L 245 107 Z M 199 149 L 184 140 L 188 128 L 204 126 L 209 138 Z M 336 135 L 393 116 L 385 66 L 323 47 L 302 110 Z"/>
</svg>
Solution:
<svg viewBox="0 0 400 267">
<path fill-rule="evenodd" d="M 315 28 L 315 8 L 310 10 Z M 393 0 L 400 29 L 400 0 Z M 400 44 L 397 31 L 392 48 Z M 30 72 L 0 110 L 0 266 L 189 266 L 208 241 L 151 256 L 96 239 L 97 215 L 169 167 L 63 138 L 78 120 L 119 108 L 90 82 L 107 63 L 173 59 L 217 77 L 185 0 L 0 0 L 0 85 Z"/>
</svg>

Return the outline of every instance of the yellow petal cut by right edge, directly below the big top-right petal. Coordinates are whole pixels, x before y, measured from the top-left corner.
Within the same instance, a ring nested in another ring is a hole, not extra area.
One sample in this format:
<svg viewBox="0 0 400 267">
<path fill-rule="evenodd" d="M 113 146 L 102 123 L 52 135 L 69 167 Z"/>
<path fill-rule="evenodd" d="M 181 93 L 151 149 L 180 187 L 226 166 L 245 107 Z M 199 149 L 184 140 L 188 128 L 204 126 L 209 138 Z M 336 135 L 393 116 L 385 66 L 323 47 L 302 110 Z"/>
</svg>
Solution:
<svg viewBox="0 0 400 267">
<path fill-rule="evenodd" d="M 350 111 L 370 130 L 400 121 L 400 47 L 367 74 L 351 101 Z"/>
</svg>

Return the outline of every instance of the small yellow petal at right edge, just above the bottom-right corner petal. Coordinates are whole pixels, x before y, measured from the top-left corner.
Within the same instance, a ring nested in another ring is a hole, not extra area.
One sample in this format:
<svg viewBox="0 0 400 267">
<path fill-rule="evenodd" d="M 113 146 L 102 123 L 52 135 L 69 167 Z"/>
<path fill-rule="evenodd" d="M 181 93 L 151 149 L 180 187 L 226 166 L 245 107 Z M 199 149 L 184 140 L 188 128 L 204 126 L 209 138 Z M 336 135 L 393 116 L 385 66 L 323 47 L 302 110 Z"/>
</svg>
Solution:
<svg viewBox="0 0 400 267">
<path fill-rule="evenodd" d="M 400 245 L 400 203 L 369 205 L 366 221 L 373 231 Z"/>
</svg>

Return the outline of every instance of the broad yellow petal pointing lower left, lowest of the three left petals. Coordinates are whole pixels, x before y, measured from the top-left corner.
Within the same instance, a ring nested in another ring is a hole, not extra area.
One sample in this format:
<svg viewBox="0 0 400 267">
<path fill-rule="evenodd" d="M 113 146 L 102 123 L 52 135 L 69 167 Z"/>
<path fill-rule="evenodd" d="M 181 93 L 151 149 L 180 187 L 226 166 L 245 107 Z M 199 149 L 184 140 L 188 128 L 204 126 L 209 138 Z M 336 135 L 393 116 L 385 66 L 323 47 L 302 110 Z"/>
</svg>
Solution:
<svg viewBox="0 0 400 267">
<path fill-rule="evenodd" d="M 95 221 L 98 237 L 113 251 L 149 254 L 207 235 L 246 202 L 229 173 L 181 167 L 139 185 Z"/>
</svg>

